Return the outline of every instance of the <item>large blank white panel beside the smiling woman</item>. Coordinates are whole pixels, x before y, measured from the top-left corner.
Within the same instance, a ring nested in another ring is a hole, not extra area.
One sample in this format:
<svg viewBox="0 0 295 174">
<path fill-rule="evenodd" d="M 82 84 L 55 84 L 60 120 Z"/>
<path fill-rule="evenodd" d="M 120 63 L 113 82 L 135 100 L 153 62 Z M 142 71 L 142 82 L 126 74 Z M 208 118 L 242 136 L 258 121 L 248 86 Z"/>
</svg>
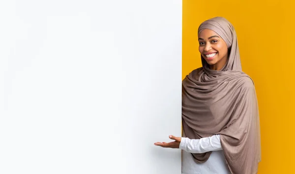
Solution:
<svg viewBox="0 0 295 174">
<path fill-rule="evenodd" d="M 181 0 L 0 2 L 0 174 L 180 174 Z"/>
</svg>

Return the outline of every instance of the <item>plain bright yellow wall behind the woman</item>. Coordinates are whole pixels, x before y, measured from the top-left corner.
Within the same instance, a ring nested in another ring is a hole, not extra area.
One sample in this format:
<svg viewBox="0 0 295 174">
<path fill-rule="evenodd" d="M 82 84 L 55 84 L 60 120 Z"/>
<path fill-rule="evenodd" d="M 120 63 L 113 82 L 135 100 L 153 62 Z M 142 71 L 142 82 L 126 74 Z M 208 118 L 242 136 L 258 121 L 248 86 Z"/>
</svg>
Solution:
<svg viewBox="0 0 295 174">
<path fill-rule="evenodd" d="M 294 7 L 286 0 L 183 0 L 182 78 L 202 66 L 197 31 L 203 21 L 222 16 L 236 29 L 242 68 L 255 82 L 260 107 L 258 174 L 295 174 Z"/>
</svg>

